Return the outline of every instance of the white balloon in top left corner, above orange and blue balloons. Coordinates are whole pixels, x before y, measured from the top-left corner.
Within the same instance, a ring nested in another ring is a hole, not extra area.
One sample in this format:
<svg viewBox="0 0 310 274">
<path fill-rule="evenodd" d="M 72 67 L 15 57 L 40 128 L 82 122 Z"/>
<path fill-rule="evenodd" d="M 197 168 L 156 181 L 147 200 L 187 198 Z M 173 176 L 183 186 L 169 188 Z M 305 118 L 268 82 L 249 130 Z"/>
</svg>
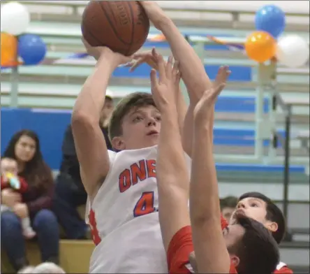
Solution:
<svg viewBox="0 0 310 274">
<path fill-rule="evenodd" d="M 21 3 L 10 2 L 1 6 L 1 31 L 20 35 L 26 31 L 29 23 L 29 11 Z"/>
</svg>

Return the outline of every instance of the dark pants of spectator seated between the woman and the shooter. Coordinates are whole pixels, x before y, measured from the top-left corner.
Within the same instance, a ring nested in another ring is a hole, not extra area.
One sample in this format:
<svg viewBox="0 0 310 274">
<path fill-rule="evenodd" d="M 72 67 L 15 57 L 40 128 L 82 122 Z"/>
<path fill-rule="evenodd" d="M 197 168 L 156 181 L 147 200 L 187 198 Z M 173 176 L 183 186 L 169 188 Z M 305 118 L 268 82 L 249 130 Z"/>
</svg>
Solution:
<svg viewBox="0 0 310 274">
<path fill-rule="evenodd" d="M 86 201 L 84 187 L 77 186 L 69 175 L 58 176 L 52 210 L 68 239 L 84 239 L 87 236 L 88 226 L 77 212 L 77 207 L 85 205 Z"/>
</svg>

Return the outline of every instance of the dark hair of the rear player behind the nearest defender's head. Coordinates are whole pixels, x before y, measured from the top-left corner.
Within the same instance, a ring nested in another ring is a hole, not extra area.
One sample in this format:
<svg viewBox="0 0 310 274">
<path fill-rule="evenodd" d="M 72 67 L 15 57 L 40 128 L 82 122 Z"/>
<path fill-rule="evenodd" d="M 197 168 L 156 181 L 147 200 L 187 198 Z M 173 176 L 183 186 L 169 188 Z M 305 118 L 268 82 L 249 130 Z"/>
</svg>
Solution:
<svg viewBox="0 0 310 274">
<path fill-rule="evenodd" d="M 256 198 L 266 203 L 267 215 L 265 218 L 270 222 L 278 224 L 278 229 L 272 232 L 272 236 L 274 237 L 274 240 L 276 240 L 276 243 L 281 243 L 281 240 L 283 240 L 283 237 L 286 234 L 286 220 L 280 208 L 278 208 L 271 199 L 259 192 L 247 192 L 239 197 L 239 201 L 246 198 Z"/>
</svg>

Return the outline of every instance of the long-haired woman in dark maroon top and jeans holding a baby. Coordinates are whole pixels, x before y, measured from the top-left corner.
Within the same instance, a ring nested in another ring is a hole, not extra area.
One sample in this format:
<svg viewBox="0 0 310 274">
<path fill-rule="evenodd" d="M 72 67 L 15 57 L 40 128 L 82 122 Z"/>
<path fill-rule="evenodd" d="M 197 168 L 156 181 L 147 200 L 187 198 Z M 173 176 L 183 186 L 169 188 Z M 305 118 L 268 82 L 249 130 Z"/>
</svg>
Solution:
<svg viewBox="0 0 310 274">
<path fill-rule="evenodd" d="M 50 210 L 54 182 L 52 172 L 43 161 L 38 136 L 29 130 L 17 132 L 3 157 L 17 161 L 18 175 L 28 183 L 23 194 L 1 190 L 1 204 L 13 211 L 1 212 L 1 247 L 16 271 L 28 266 L 21 219 L 29 216 L 36 231 L 42 261 L 59 263 L 59 227 Z"/>
</svg>

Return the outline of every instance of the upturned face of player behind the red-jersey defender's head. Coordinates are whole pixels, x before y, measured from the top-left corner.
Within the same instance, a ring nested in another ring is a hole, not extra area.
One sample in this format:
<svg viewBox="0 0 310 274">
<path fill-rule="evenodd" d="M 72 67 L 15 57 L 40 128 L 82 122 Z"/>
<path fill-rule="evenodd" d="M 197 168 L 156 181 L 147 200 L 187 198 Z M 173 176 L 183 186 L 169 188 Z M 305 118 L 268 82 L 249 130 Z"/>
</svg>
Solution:
<svg viewBox="0 0 310 274">
<path fill-rule="evenodd" d="M 242 214 L 246 217 L 255 219 L 256 221 L 262 223 L 270 231 L 276 231 L 276 229 L 278 229 L 277 224 L 266 219 L 266 208 L 267 205 L 265 201 L 258 198 L 249 197 L 239 201 L 235 212 L 242 212 Z M 230 224 L 235 222 L 235 212 L 232 213 Z"/>
</svg>

